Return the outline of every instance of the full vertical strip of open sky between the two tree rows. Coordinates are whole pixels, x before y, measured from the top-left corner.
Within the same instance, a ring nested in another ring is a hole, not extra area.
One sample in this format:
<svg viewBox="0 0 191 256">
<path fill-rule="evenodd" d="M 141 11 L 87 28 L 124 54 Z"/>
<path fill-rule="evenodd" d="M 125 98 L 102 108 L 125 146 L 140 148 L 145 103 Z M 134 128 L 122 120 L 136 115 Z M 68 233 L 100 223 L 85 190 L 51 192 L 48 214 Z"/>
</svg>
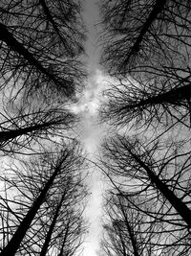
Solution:
<svg viewBox="0 0 191 256">
<path fill-rule="evenodd" d="M 99 28 L 98 10 L 96 0 L 84 1 L 84 22 L 87 28 L 87 41 L 85 45 L 87 58 L 87 69 L 89 79 L 87 81 L 83 95 L 79 97 L 77 104 L 72 108 L 74 113 L 80 116 L 79 135 L 88 157 L 96 161 L 101 141 L 105 134 L 103 124 L 98 122 L 97 110 L 100 105 L 100 95 L 104 89 L 105 76 L 98 65 L 100 49 L 97 38 Z M 83 244 L 83 256 L 96 256 L 101 236 L 101 216 L 102 216 L 102 195 L 104 184 L 100 171 L 90 163 L 90 175 L 87 179 L 91 196 L 85 211 L 85 218 L 89 221 L 89 229 Z"/>
</svg>

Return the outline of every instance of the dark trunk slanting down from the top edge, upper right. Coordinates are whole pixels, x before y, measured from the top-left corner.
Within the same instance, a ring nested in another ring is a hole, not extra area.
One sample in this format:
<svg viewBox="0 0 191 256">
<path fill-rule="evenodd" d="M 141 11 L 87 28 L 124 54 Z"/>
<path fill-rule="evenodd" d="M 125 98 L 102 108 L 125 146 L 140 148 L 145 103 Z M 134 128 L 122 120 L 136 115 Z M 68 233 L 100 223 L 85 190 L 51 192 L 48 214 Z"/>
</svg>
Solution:
<svg viewBox="0 0 191 256">
<path fill-rule="evenodd" d="M 157 0 L 156 4 L 153 8 L 153 10 L 150 12 L 148 18 L 146 19 L 145 23 L 143 24 L 139 35 L 134 43 L 134 45 L 132 46 L 131 52 L 128 54 L 127 58 L 125 59 L 124 64 L 126 65 L 128 63 L 128 61 L 130 60 L 130 58 L 135 54 L 138 53 L 139 51 L 139 46 L 140 43 L 144 37 L 144 35 L 148 32 L 149 28 L 151 27 L 152 23 L 156 20 L 157 15 L 159 14 L 159 12 L 162 11 L 162 9 L 164 8 L 164 5 L 166 4 L 166 0 Z"/>
</svg>

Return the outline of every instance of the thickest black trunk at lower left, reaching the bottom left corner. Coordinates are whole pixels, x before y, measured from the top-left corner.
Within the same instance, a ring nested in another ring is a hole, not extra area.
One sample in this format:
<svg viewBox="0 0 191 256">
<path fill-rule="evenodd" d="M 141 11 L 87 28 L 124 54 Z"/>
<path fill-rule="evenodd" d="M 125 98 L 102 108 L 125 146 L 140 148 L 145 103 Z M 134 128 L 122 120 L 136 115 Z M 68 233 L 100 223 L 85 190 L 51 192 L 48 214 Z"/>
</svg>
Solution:
<svg viewBox="0 0 191 256">
<path fill-rule="evenodd" d="M 43 203 L 44 199 L 46 198 L 47 192 L 53 185 L 53 180 L 58 175 L 60 169 L 55 168 L 53 175 L 50 177 L 48 182 L 46 183 L 45 187 L 42 189 L 38 198 L 32 204 L 32 208 L 29 210 L 23 221 L 21 221 L 20 225 L 18 226 L 17 230 L 13 234 L 11 241 L 7 246 L 2 250 L 0 256 L 14 256 L 16 251 L 18 250 L 26 232 L 30 228 L 30 225 L 35 217 L 38 209 L 40 208 L 41 204 Z"/>
</svg>

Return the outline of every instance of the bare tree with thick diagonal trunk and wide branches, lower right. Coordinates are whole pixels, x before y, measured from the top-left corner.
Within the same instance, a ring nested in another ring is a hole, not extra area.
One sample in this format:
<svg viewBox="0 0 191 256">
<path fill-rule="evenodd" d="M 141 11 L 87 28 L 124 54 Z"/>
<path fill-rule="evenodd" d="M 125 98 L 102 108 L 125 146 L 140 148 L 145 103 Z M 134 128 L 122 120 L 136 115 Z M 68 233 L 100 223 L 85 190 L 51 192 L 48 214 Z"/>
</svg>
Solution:
<svg viewBox="0 0 191 256">
<path fill-rule="evenodd" d="M 187 146 L 159 142 L 145 146 L 137 138 L 118 136 L 105 143 L 104 149 L 104 172 L 118 196 L 125 198 L 130 212 L 145 216 L 153 228 L 148 231 L 152 239 L 147 245 L 152 248 L 155 244 L 152 250 L 161 250 L 161 255 L 188 255 L 191 209 Z"/>
</svg>

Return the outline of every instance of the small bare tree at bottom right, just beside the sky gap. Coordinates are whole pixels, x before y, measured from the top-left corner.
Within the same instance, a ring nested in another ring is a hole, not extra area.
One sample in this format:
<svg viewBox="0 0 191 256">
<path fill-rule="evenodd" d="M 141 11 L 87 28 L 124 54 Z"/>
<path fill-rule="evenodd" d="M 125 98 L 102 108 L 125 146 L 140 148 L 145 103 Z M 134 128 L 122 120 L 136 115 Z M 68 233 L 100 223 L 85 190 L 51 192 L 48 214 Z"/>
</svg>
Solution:
<svg viewBox="0 0 191 256">
<path fill-rule="evenodd" d="M 157 223 L 138 211 L 116 191 L 110 191 L 105 203 L 106 221 L 101 250 L 107 255 L 156 255 L 161 247 L 155 244 Z M 159 226 L 159 224 L 158 224 Z M 157 239 L 156 239 L 157 237 Z M 108 253 L 108 252 L 109 253 Z"/>
</svg>

